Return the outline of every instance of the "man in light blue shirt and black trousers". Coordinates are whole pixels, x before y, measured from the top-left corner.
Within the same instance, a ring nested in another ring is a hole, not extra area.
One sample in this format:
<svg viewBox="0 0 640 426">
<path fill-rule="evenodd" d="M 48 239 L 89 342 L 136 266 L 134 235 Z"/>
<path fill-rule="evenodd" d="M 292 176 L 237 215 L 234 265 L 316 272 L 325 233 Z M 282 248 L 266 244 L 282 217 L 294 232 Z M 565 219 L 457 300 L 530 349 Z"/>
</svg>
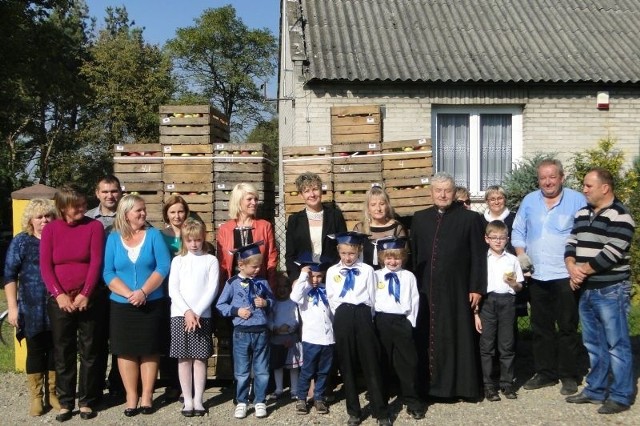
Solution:
<svg viewBox="0 0 640 426">
<path fill-rule="evenodd" d="M 569 284 L 564 248 L 573 218 L 587 202 L 581 193 L 563 188 L 560 161 L 545 159 L 537 169 L 540 189 L 522 200 L 511 236 L 523 270 L 533 265 L 534 271 L 529 293 L 535 375 L 523 387 L 553 386 L 560 379 L 560 393 L 571 395 L 581 379 L 576 362 L 581 342 L 578 295 Z"/>
</svg>

